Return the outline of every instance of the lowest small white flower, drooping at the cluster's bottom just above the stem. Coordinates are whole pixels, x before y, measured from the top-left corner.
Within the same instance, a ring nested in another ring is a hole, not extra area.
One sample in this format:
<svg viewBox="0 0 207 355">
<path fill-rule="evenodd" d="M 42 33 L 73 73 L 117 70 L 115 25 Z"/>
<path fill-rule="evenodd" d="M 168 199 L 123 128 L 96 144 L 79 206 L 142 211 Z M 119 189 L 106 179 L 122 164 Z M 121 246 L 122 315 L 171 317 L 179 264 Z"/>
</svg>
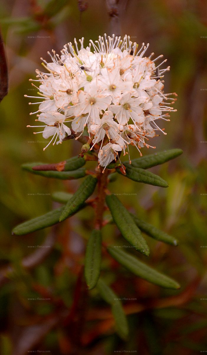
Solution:
<svg viewBox="0 0 207 355">
<path fill-rule="evenodd" d="M 106 166 L 109 165 L 112 160 L 116 160 L 116 157 L 118 155 L 118 152 L 122 151 L 122 148 L 120 147 L 119 144 L 112 144 L 108 143 L 105 146 L 103 146 L 102 149 L 100 149 L 98 153 L 98 160 L 99 164 L 101 166 Z M 105 170 L 105 169 L 104 169 Z"/>
</svg>

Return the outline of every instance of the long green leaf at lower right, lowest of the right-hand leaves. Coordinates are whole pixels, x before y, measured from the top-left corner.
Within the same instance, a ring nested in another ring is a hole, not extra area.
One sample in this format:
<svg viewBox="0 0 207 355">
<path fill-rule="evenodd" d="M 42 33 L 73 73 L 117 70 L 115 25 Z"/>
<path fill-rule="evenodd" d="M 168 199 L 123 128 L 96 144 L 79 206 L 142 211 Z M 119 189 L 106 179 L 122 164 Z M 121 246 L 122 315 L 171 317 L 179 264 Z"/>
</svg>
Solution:
<svg viewBox="0 0 207 355">
<path fill-rule="evenodd" d="M 126 253 L 121 248 L 109 246 L 107 250 L 116 261 L 138 277 L 164 288 L 176 290 L 180 288 L 180 285 L 175 280 L 154 270 L 150 266 L 139 261 L 136 257 Z"/>
</svg>

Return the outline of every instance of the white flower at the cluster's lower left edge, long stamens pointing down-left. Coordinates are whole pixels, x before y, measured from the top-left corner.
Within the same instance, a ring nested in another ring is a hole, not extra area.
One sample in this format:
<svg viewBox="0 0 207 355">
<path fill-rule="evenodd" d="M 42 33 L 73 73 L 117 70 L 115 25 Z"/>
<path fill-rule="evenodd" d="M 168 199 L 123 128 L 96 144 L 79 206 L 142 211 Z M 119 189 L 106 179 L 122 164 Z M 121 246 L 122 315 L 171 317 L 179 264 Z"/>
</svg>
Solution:
<svg viewBox="0 0 207 355">
<path fill-rule="evenodd" d="M 63 123 L 65 121 L 65 115 L 62 115 L 60 113 L 41 113 L 39 115 L 39 118 L 37 121 L 44 122 L 46 123 L 45 126 L 27 126 L 27 127 L 45 127 L 43 131 L 40 132 L 34 132 L 34 134 L 37 133 L 42 133 L 43 138 L 48 138 L 52 137 L 51 141 L 47 144 L 47 146 L 43 149 L 45 150 L 49 144 L 53 141 L 54 137 L 55 140 L 53 142 L 53 146 L 57 140 L 57 137 L 59 138 L 59 141 L 56 143 L 62 143 L 63 138 L 65 137 L 65 133 L 68 135 L 71 134 L 71 130 Z"/>
</svg>

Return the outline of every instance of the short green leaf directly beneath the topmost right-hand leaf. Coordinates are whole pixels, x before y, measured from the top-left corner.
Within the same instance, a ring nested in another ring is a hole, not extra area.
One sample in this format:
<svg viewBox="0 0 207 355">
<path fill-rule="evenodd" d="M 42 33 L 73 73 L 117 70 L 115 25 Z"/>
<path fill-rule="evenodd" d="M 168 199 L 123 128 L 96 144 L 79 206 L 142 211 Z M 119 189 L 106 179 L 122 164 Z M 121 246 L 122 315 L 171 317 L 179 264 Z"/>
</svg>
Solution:
<svg viewBox="0 0 207 355">
<path fill-rule="evenodd" d="M 121 175 L 121 171 L 117 169 L 117 172 Z M 127 166 L 126 167 L 126 176 L 127 178 L 137 181 L 137 182 L 144 182 L 145 184 L 149 185 L 154 185 L 154 186 L 160 186 L 160 187 L 168 187 L 167 181 L 163 180 L 160 178 L 160 176 L 155 175 L 151 173 L 150 171 L 141 169 L 141 168 L 135 168 L 134 166 Z"/>
</svg>

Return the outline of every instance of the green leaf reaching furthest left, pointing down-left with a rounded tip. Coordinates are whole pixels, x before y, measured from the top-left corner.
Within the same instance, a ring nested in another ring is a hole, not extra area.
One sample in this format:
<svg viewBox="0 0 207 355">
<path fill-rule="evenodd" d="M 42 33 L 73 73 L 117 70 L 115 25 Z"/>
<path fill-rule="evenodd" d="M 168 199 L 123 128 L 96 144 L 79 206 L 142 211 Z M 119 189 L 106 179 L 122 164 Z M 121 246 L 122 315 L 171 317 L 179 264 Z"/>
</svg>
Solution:
<svg viewBox="0 0 207 355">
<path fill-rule="evenodd" d="M 59 222 L 59 217 L 63 209 L 64 207 L 60 207 L 54 209 L 53 211 L 47 212 L 39 217 L 30 219 L 27 222 L 21 223 L 12 230 L 12 234 L 24 235 L 34 232 L 36 230 L 50 227 L 51 225 Z"/>
</svg>

